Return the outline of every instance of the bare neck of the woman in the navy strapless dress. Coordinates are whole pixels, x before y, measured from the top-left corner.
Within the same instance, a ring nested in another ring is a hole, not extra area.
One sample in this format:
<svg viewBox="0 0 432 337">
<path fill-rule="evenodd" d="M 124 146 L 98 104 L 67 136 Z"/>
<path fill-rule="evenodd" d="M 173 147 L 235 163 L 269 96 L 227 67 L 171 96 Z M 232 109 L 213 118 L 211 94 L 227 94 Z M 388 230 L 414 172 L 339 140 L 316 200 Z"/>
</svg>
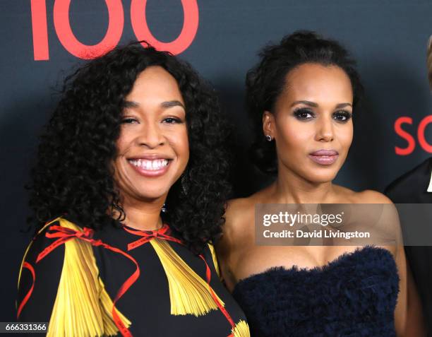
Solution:
<svg viewBox="0 0 432 337">
<path fill-rule="evenodd" d="M 287 170 L 280 171 L 273 185 L 277 203 L 328 203 L 333 195 L 332 182 L 309 182 Z"/>
</svg>

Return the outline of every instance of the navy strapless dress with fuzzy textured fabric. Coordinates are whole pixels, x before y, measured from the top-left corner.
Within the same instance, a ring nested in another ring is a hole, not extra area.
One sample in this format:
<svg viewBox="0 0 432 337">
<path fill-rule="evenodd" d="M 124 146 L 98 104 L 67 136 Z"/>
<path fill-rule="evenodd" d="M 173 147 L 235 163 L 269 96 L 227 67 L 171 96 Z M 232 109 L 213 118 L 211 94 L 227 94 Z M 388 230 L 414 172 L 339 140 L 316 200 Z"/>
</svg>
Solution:
<svg viewBox="0 0 432 337">
<path fill-rule="evenodd" d="M 253 337 L 396 336 L 399 276 L 392 254 L 364 247 L 313 269 L 271 268 L 241 280 L 234 298 Z"/>
</svg>

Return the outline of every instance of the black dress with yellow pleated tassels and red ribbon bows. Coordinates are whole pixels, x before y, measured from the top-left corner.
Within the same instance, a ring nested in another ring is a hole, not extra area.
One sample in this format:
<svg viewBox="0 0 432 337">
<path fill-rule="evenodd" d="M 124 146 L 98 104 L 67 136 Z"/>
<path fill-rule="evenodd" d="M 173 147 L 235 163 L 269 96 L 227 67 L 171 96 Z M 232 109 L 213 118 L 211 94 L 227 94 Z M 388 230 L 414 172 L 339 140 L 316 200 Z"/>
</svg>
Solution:
<svg viewBox="0 0 432 337">
<path fill-rule="evenodd" d="M 47 223 L 23 259 L 17 317 L 49 322 L 48 336 L 249 336 L 213 247 L 192 254 L 168 225 Z"/>
</svg>

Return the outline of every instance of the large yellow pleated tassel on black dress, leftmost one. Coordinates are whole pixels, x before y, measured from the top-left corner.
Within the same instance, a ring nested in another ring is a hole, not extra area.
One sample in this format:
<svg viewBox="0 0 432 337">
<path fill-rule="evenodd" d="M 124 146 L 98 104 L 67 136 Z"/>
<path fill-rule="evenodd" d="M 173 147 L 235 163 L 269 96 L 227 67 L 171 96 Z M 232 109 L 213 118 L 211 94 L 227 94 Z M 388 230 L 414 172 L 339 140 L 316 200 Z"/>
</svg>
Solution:
<svg viewBox="0 0 432 337">
<path fill-rule="evenodd" d="M 58 220 L 62 227 L 82 231 L 63 218 Z M 64 264 L 47 336 L 116 335 L 112 300 L 98 277 L 91 244 L 74 238 L 64 245 Z M 118 314 L 126 327 L 131 325 L 123 314 Z"/>
</svg>

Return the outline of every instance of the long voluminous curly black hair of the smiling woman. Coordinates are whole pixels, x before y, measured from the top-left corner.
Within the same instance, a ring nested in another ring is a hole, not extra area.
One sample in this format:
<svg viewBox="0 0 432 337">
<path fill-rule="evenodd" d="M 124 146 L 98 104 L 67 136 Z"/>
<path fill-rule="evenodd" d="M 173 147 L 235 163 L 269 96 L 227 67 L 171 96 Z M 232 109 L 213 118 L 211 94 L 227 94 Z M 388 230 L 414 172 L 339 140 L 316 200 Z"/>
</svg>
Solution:
<svg viewBox="0 0 432 337">
<path fill-rule="evenodd" d="M 181 179 L 171 187 L 164 221 L 196 253 L 220 236 L 231 191 L 226 147 L 230 129 L 217 97 L 188 63 L 139 42 L 116 47 L 64 81 L 61 100 L 40 137 L 28 185 L 33 211 L 29 222 L 36 230 L 65 214 L 95 230 L 124 219 L 112 163 L 125 97 L 148 66 L 161 66 L 176 79 L 186 105 L 186 189 Z"/>
</svg>

